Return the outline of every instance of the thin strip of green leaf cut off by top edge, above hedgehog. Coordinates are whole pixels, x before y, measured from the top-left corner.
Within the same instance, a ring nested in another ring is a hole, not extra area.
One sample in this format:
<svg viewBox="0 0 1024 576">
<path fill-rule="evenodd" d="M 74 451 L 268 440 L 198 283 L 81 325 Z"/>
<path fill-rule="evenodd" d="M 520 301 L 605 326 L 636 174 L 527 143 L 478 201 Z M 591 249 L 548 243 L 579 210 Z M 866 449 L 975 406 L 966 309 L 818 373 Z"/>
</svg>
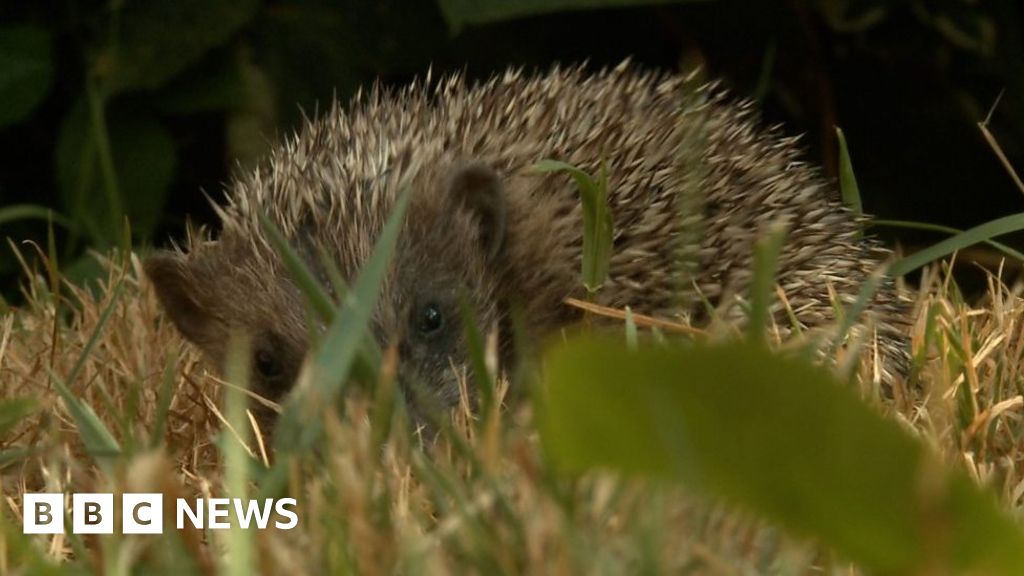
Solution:
<svg viewBox="0 0 1024 576">
<path fill-rule="evenodd" d="M 449 28 L 502 22 L 567 10 L 650 6 L 708 0 L 437 0 Z"/>
</svg>

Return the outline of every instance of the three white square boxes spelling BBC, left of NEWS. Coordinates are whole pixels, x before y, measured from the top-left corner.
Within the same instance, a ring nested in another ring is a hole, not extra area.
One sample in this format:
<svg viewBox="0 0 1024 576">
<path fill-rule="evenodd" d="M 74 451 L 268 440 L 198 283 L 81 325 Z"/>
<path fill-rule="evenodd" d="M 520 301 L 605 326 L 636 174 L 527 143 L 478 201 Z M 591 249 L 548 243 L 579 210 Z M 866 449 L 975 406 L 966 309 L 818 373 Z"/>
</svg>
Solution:
<svg viewBox="0 0 1024 576">
<path fill-rule="evenodd" d="M 25 494 L 23 503 L 22 531 L 25 534 L 65 533 L 63 494 Z M 116 513 L 114 494 L 77 493 L 71 496 L 71 531 L 75 534 L 113 534 Z M 161 534 L 163 531 L 163 494 L 122 495 L 123 534 Z"/>
</svg>

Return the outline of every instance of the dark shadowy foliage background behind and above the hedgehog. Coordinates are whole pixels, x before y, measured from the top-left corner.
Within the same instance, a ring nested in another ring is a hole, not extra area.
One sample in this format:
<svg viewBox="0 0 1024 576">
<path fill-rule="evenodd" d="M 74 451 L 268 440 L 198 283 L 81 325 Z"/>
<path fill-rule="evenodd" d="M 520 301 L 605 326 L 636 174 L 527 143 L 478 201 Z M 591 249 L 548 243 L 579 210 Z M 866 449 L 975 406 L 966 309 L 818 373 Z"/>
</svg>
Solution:
<svg viewBox="0 0 1024 576">
<path fill-rule="evenodd" d="M 831 175 L 841 126 L 867 212 L 970 228 L 1024 210 L 1024 191 L 977 126 L 1004 92 L 990 129 L 1024 171 L 1022 12 L 1017 0 L 8 2 L 0 237 L 33 261 L 23 241 L 46 249 L 52 209 L 61 270 L 87 279 L 89 248 L 164 245 L 186 214 L 213 223 L 204 193 L 221 198 L 232 170 L 335 95 L 431 66 L 483 78 L 627 56 L 701 66 L 758 99 L 769 122 L 806 134 L 810 159 Z M 9 217 L 15 205 L 28 217 Z M 908 248 L 941 238 L 876 234 Z M 0 247 L 7 300 L 18 299 L 20 274 Z"/>
</svg>

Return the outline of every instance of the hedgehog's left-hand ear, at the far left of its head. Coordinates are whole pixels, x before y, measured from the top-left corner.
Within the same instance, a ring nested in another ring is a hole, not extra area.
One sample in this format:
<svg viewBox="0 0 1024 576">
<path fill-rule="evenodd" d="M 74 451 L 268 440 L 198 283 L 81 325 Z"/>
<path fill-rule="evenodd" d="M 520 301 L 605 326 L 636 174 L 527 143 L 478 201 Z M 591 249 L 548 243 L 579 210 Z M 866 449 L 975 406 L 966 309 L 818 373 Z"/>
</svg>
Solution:
<svg viewBox="0 0 1024 576">
<path fill-rule="evenodd" d="M 217 320 L 202 304 L 204 287 L 186 255 L 159 252 L 146 258 L 142 268 L 160 303 L 184 337 L 200 345 L 217 340 Z"/>
</svg>

